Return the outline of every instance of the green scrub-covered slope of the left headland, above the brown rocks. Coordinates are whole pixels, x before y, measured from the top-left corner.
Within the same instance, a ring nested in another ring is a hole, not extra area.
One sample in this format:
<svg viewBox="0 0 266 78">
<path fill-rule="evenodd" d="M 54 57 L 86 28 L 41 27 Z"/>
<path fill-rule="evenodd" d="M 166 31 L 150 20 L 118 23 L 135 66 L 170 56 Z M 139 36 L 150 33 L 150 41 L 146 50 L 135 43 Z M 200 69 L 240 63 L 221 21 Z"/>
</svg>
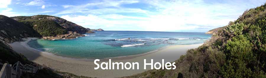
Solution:
<svg viewBox="0 0 266 78">
<path fill-rule="evenodd" d="M 19 22 L 22 22 L 25 25 L 32 27 L 43 37 L 56 36 L 68 33 L 64 27 L 60 26 L 57 22 L 53 20 L 46 19 L 46 17 L 54 17 L 54 16 L 36 15 L 32 17 L 18 16 L 11 18 L 17 19 Z"/>
</svg>

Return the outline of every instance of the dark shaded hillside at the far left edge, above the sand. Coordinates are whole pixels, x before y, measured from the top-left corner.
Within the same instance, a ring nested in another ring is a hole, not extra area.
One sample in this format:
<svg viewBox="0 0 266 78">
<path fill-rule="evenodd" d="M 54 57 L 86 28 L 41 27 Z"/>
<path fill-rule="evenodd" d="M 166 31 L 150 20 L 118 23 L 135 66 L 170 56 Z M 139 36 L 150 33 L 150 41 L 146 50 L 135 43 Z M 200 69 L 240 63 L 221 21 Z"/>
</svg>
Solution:
<svg viewBox="0 0 266 78">
<path fill-rule="evenodd" d="M 12 43 L 27 37 L 40 37 L 40 35 L 32 27 L 0 15 L 0 40 Z"/>
</svg>

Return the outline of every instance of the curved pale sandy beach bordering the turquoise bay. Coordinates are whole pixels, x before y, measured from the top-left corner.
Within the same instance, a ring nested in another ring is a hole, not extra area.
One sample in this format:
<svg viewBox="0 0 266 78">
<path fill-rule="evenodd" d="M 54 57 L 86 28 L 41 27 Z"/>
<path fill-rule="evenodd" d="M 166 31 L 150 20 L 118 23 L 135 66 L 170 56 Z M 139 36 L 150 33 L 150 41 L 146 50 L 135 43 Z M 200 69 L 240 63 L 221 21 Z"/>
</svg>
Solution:
<svg viewBox="0 0 266 78">
<path fill-rule="evenodd" d="M 55 56 L 52 54 L 49 54 L 47 52 L 40 52 L 37 51 L 27 45 L 27 42 L 33 39 L 37 38 L 27 38 L 23 42 L 14 42 L 9 45 L 12 46 L 14 51 L 18 53 L 22 53 L 24 56 L 26 56 L 29 60 L 36 62 L 38 64 L 44 64 L 46 66 L 49 66 L 53 69 L 56 69 L 58 71 L 63 72 L 69 72 L 76 75 L 82 75 L 87 77 L 101 77 L 101 78 L 113 78 L 113 77 L 124 77 L 124 76 L 130 76 L 138 73 L 142 73 L 144 71 L 147 71 L 150 69 L 150 66 L 147 66 L 149 69 L 143 69 L 144 68 L 144 59 L 147 59 L 147 63 L 150 63 L 150 59 L 153 59 L 153 63 L 155 62 L 162 62 L 162 59 L 164 59 L 166 62 L 173 62 L 181 55 L 185 55 L 186 51 L 191 48 L 197 48 L 198 46 L 202 44 L 193 44 L 193 45 L 170 45 L 166 48 L 160 49 L 155 52 L 151 53 L 145 53 L 137 56 L 125 56 L 120 58 L 111 58 L 112 62 L 138 62 L 139 63 L 139 69 L 137 70 L 126 70 L 126 69 L 114 69 L 114 70 L 103 70 L 103 69 L 97 69 L 94 70 L 94 67 L 96 65 L 94 64 L 94 59 L 91 60 L 77 60 L 72 58 L 64 58 L 61 56 Z M 106 62 L 108 59 L 103 59 L 100 62 L 97 62 L 100 64 L 101 62 Z"/>
</svg>

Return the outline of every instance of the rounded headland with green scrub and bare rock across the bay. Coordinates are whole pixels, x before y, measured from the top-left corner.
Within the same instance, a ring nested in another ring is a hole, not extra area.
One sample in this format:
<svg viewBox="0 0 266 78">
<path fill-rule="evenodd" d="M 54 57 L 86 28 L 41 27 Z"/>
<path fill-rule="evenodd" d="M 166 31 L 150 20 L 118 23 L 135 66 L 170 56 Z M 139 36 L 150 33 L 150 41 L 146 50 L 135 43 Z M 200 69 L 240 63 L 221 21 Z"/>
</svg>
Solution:
<svg viewBox="0 0 266 78">
<path fill-rule="evenodd" d="M 32 27 L 43 39 L 48 40 L 76 38 L 85 36 L 82 35 L 85 33 L 94 33 L 80 25 L 49 15 L 17 16 L 11 18 Z"/>
</svg>

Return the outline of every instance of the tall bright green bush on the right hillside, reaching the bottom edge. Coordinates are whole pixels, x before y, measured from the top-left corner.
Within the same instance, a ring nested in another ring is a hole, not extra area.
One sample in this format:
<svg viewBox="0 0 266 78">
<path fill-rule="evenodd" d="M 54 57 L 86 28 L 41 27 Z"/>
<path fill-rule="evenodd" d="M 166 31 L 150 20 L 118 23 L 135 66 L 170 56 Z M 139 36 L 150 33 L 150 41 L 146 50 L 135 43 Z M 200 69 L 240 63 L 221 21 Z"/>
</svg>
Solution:
<svg viewBox="0 0 266 78">
<path fill-rule="evenodd" d="M 228 60 L 222 69 L 225 78 L 252 77 L 253 65 L 256 56 L 252 52 L 252 43 L 244 35 L 233 37 L 226 44 L 226 59 Z M 252 65 L 249 67 L 249 65 Z"/>
</svg>

